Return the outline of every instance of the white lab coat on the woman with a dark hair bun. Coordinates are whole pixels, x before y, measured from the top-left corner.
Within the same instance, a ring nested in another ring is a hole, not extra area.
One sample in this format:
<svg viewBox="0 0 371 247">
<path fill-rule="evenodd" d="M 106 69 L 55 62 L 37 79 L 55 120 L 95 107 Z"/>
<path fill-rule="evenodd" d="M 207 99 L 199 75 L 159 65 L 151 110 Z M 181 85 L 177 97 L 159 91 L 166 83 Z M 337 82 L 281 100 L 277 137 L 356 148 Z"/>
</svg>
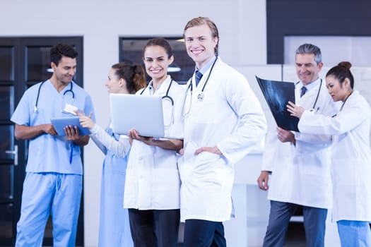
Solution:
<svg viewBox="0 0 371 247">
<path fill-rule="evenodd" d="M 335 117 L 305 111 L 299 121 L 302 132 L 334 135 L 334 221 L 371 222 L 370 119 L 369 104 L 354 91 Z"/>
</svg>

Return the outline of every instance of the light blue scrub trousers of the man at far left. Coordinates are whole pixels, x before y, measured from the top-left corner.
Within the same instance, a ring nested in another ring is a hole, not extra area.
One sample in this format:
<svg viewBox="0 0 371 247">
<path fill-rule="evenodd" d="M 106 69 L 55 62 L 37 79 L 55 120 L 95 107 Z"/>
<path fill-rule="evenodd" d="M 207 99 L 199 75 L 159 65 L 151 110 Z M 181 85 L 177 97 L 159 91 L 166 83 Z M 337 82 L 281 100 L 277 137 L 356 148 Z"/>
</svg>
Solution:
<svg viewBox="0 0 371 247">
<path fill-rule="evenodd" d="M 42 246 L 45 225 L 52 215 L 53 246 L 75 246 L 82 176 L 28 172 L 23 183 L 16 247 Z"/>
</svg>

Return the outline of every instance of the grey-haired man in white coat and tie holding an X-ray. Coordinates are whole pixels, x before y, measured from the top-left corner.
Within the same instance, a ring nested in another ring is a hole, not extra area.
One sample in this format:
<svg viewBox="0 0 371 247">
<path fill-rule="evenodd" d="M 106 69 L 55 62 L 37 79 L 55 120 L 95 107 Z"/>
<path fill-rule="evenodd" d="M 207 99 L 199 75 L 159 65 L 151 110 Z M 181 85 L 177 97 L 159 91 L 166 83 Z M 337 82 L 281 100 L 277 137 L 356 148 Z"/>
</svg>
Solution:
<svg viewBox="0 0 371 247">
<path fill-rule="evenodd" d="M 319 47 L 302 44 L 295 52 L 300 81 L 295 85 L 298 105 L 326 116 L 338 112 L 319 78 L 322 55 Z M 258 178 L 271 200 L 269 224 L 263 246 L 283 246 L 290 217 L 302 206 L 307 246 L 324 246 L 327 209 L 332 203 L 330 173 L 331 135 L 306 135 L 276 127 L 269 131 Z"/>
</svg>

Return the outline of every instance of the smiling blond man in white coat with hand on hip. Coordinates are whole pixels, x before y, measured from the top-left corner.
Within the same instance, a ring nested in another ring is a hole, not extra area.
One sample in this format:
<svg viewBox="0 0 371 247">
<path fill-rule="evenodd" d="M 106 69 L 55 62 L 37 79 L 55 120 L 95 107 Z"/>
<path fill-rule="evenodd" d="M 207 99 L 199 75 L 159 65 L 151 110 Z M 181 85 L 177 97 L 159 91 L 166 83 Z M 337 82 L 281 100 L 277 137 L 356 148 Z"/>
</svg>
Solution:
<svg viewBox="0 0 371 247">
<path fill-rule="evenodd" d="M 182 110 L 184 247 L 226 246 L 223 221 L 232 215 L 234 164 L 264 138 L 266 119 L 246 78 L 216 56 L 215 23 L 204 17 L 189 20 L 184 40 L 196 64 Z"/>
</svg>

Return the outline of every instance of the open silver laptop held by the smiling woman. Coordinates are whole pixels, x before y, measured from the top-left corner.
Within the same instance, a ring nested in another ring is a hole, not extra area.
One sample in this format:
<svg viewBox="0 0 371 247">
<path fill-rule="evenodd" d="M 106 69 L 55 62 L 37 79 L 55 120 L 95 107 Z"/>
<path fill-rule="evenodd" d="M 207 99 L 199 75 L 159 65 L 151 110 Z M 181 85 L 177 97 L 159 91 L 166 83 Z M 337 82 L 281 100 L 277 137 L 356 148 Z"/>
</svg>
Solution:
<svg viewBox="0 0 371 247">
<path fill-rule="evenodd" d="M 110 94 L 110 108 L 114 133 L 127 135 L 135 128 L 142 136 L 165 136 L 162 97 Z"/>
</svg>

